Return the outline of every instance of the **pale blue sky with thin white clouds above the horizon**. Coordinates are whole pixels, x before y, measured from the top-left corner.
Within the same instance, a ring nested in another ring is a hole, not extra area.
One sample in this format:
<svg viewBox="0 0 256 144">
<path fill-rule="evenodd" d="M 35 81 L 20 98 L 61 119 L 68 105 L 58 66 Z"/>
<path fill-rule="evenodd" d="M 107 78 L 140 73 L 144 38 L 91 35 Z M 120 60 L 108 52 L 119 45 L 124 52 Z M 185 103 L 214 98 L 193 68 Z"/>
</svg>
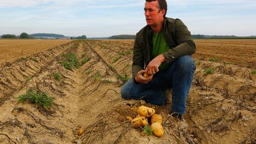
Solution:
<svg viewBox="0 0 256 144">
<path fill-rule="evenodd" d="M 142 0 L 0 0 L 0 35 L 108 37 L 146 25 Z M 256 35 L 256 0 L 167 0 L 167 17 L 192 34 Z"/>
</svg>

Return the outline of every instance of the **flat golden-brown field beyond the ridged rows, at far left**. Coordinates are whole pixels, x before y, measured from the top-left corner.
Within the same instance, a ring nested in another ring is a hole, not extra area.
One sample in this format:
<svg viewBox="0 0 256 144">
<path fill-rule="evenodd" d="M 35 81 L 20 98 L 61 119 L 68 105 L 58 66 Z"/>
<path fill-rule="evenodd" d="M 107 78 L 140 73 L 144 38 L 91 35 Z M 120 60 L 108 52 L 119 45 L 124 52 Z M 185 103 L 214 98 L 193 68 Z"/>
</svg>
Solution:
<svg viewBox="0 0 256 144">
<path fill-rule="evenodd" d="M 0 40 L 0 64 L 43 52 L 72 40 Z"/>
</svg>

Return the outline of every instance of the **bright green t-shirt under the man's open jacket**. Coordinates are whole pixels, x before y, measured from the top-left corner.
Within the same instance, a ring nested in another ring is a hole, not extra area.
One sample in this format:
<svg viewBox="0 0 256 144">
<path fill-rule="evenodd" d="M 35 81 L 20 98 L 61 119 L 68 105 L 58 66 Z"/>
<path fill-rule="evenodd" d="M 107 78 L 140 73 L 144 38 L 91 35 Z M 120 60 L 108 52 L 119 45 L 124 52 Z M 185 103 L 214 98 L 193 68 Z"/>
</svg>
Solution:
<svg viewBox="0 0 256 144">
<path fill-rule="evenodd" d="M 165 41 L 164 33 L 160 31 L 159 33 L 153 34 L 153 49 L 151 50 L 151 58 L 161 55 L 169 50 L 169 46 Z M 159 66 L 159 71 L 165 71 L 169 68 L 166 62 L 162 62 Z"/>
</svg>

